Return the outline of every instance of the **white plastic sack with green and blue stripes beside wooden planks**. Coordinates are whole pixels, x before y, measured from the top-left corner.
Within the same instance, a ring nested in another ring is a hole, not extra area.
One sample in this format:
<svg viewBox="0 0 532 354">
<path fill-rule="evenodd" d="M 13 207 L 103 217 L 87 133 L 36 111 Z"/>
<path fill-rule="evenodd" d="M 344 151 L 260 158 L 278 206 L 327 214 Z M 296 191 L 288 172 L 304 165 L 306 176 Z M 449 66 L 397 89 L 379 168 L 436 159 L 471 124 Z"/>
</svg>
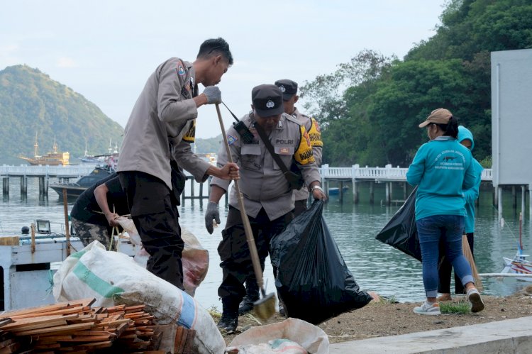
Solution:
<svg viewBox="0 0 532 354">
<path fill-rule="evenodd" d="M 226 348 L 211 315 L 193 297 L 98 241 L 62 263 L 54 275 L 53 294 L 57 302 L 94 297 L 94 306 L 145 304 L 158 325 L 170 325 L 163 333 L 170 341 L 162 349 L 172 353 L 177 326 L 196 330 L 194 353 L 223 353 Z"/>
</svg>

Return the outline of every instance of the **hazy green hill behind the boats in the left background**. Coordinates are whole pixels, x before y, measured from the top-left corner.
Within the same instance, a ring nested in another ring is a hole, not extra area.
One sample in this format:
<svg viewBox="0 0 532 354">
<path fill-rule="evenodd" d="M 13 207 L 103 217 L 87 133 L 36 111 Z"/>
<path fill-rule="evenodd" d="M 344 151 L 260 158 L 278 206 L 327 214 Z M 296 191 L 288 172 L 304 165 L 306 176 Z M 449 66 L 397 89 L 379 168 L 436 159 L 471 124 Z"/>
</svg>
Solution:
<svg viewBox="0 0 532 354">
<path fill-rule="evenodd" d="M 19 155 L 33 157 L 35 133 L 39 154 L 70 153 L 70 162 L 84 155 L 106 153 L 109 140 L 120 146 L 123 128 L 95 104 L 47 74 L 26 65 L 0 71 L 0 163 L 26 163 Z"/>
</svg>

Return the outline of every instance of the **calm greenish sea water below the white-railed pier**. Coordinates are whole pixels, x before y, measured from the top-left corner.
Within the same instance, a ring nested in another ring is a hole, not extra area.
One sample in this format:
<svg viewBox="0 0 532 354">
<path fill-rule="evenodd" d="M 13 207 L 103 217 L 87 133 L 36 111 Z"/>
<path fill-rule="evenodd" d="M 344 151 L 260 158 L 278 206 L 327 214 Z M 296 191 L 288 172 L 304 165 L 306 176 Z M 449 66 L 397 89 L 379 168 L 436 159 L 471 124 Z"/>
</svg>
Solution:
<svg viewBox="0 0 532 354">
<path fill-rule="evenodd" d="M 187 182 L 189 183 L 189 182 Z M 375 201 L 369 204 L 367 185 L 360 187 L 360 204 L 353 204 L 350 190 L 345 194 L 343 203 L 338 197 L 331 196 L 324 209 L 326 223 L 338 244 L 350 271 L 361 289 L 372 290 L 386 297 L 395 297 L 399 302 L 417 302 L 424 298 L 421 280 L 421 263 L 404 253 L 375 240 L 375 235 L 389 221 L 400 205 L 384 206 L 384 185 L 376 184 Z M 334 187 L 334 186 L 331 186 Z M 397 187 L 395 187 L 397 188 Z M 497 220 L 497 210 L 492 206 L 492 188 L 485 186 L 480 195 L 477 208 L 477 228 L 475 231 L 475 258 L 479 272 L 500 272 L 503 268 L 502 257 L 512 258 L 516 253 L 519 240 L 519 211 L 511 207 L 511 193 L 504 194 L 504 227 Z M 195 188 L 196 194 L 199 187 Z M 394 190 L 394 198 L 401 198 L 402 189 Z M 18 179 L 11 179 L 9 198 L 0 202 L 0 235 L 18 235 L 22 226 L 29 226 L 35 219 L 51 221 L 52 231 L 64 229 L 62 199 L 50 189 L 47 199 L 39 199 L 37 179 L 29 179 L 28 197 L 21 198 Z M 187 185 L 187 193 L 189 185 Z M 210 265 L 206 279 L 196 291 L 196 299 L 206 308 L 216 306 L 221 309 L 217 296 L 221 281 L 219 256 L 216 251 L 221 240 L 221 230 L 225 224 L 227 209 L 221 206 L 221 226 L 209 235 L 204 226 L 203 201 L 187 199 L 179 208 L 179 223 L 188 228 L 209 250 Z M 381 202 L 379 202 L 381 201 Z M 69 202 L 69 211 L 73 201 Z M 518 198 L 518 206 L 521 202 Z M 528 204 L 527 204 L 528 210 Z M 532 248 L 532 232 L 528 222 L 523 226 L 523 248 Z M 527 253 L 527 252 L 525 252 Z M 532 254 L 532 252 L 531 252 Z M 265 282 L 267 292 L 273 292 L 275 283 L 270 262 L 266 262 Z M 508 295 L 524 287 L 526 282 L 506 278 L 484 279 L 484 294 Z M 453 289 L 453 288 L 451 288 Z"/>
</svg>

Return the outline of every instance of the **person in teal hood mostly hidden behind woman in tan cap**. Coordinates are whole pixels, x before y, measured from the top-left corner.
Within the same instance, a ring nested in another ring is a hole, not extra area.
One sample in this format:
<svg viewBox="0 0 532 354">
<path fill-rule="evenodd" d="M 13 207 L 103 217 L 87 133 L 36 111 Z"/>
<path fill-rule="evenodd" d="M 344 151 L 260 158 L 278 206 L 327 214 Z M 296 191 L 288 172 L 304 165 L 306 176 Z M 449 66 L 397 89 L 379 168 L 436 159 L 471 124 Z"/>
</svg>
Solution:
<svg viewBox="0 0 532 354">
<path fill-rule="evenodd" d="M 475 148 L 475 140 L 473 140 L 473 134 L 465 126 L 458 127 L 458 142 L 468 148 L 470 151 Z M 480 181 L 482 170 L 484 167 L 480 163 L 472 159 L 473 169 L 475 170 L 476 182 L 470 189 L 463 191 L 465 197 L 465 219 L 464 219 L 464 233 L 467 236 L 467 243 L 473 254 L 474 242 L 474 233 L 475 233 L 475 201 L 479 196 Z M 448 260 L 443 257 L 443 260 L 439 262 L 439 279 L 440 283 L 438 284 L 438 292 L 441 293 L 441 296 L 438 297 L 438 301 L 451 301 L 453 298 L 450 296 L 450 272 L 452 265 Z M 462 282 L 458 278 L 455 272 L 455 294 L 465 294 L 465 289 L 462 286 Z"/>
</svg>

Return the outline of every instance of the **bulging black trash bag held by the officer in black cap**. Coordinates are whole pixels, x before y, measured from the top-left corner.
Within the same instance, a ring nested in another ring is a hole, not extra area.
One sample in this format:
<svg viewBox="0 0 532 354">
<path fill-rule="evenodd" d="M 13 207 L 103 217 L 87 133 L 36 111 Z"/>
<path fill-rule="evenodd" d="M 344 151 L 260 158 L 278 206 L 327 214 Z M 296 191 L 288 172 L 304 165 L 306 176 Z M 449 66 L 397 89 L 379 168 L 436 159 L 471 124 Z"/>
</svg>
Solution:
<svg viewBox="0 0 532 354">
<path fill-rule="evenodd" d="M 323 201 L 270 241 L 275 286 L 287 316 L 318 324 L 360 309 L 372 297 L 359 289 L 323 217 Z"/>
</svg>

